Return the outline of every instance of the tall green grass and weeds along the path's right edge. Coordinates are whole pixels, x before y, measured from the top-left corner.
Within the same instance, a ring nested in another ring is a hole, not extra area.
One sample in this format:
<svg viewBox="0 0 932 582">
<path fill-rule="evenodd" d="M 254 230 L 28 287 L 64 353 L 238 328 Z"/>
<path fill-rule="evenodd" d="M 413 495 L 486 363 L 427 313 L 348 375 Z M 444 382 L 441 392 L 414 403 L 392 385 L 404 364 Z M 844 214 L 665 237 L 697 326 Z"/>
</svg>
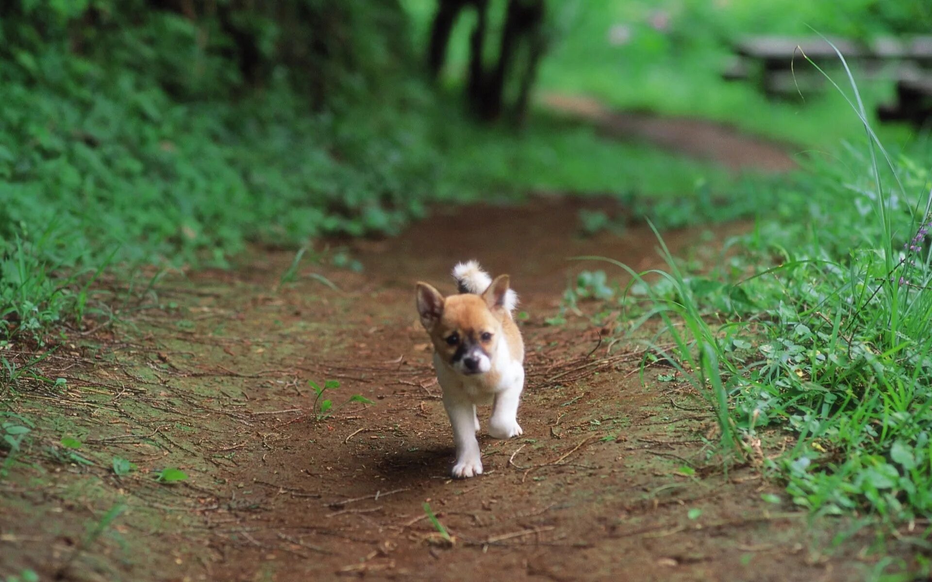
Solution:
<svg viewBox="0 0 932 582">
<path fill-rule="evenodd" d="M 664 248 L 668 271 L 632 273 L 630 291 L 663 318 L 726 450 L 817 514 L 896 525 L 932 517 L 932 151 L 885 151 L 853 94 L 869 143 L 779 187 L 723 264 L 686 269 Z M 785 453 L 752 446 L 787 433 Z"/>
</svg>

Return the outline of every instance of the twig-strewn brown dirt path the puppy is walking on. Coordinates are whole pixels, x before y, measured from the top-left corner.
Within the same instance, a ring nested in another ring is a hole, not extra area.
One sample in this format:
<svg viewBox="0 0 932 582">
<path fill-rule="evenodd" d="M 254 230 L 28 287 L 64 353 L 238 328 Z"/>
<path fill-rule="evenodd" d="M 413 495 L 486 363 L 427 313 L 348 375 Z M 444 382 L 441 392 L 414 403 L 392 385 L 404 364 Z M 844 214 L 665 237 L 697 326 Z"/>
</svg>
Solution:
<svg viewBox="0 0 932 582">
<path fill-rule="evenodd" d="M 256 251 L 234 271 L 162 281 L 139 315 L 98 338 L 106 349 L 66 345 L 38 364 L 66 387 L 23 381 L 15 408 L 39 426 L 27 462 L 0 480 L 0 573 L 31 567 L 42 579 L 134 581 L 861 577 L 877 556 L 858 554 L 853 540 L 823 553 L 827 524 L 814 527 L 752 467 L 722 472 L 709 407 L 670 368 L 639 373 L 642 345 L 625 334 L 624 320 L 616 329 L 588 317 L 545 324 L 569 277 L 608 266 L 568 257 L 604 255 L 637 269 L 660 263 L 645 228 L 578 237 L 579 204 L 439 213 L 402 237 L 354 243 L 362 274 L 308 263 L 280 288 L 294 254 Z M 702 239 L 699 231 L 666 238 L 679 254 Z M 450 429 L 413 282 L 452 291 L 450 267 L 473 257 L 511 274 L 528 313 L 525 434 L 483 437 L 486 473 L 451 480 Z M 307 381 L 328 379 L 341 383 L 335 405 L 352 394 L 375 404 L 349 403 L 316 419 Z M 43 452 L 63 435 L 83 440 L 78 453 L 94 465 L 49 462 Z M 114 455 L 138 470 L 117 478 Z M 164 467 L 189 478 L 159 484 L 153 471 Z M 121 504 L 125 511 L 107 522 Z"/>
</svg>

